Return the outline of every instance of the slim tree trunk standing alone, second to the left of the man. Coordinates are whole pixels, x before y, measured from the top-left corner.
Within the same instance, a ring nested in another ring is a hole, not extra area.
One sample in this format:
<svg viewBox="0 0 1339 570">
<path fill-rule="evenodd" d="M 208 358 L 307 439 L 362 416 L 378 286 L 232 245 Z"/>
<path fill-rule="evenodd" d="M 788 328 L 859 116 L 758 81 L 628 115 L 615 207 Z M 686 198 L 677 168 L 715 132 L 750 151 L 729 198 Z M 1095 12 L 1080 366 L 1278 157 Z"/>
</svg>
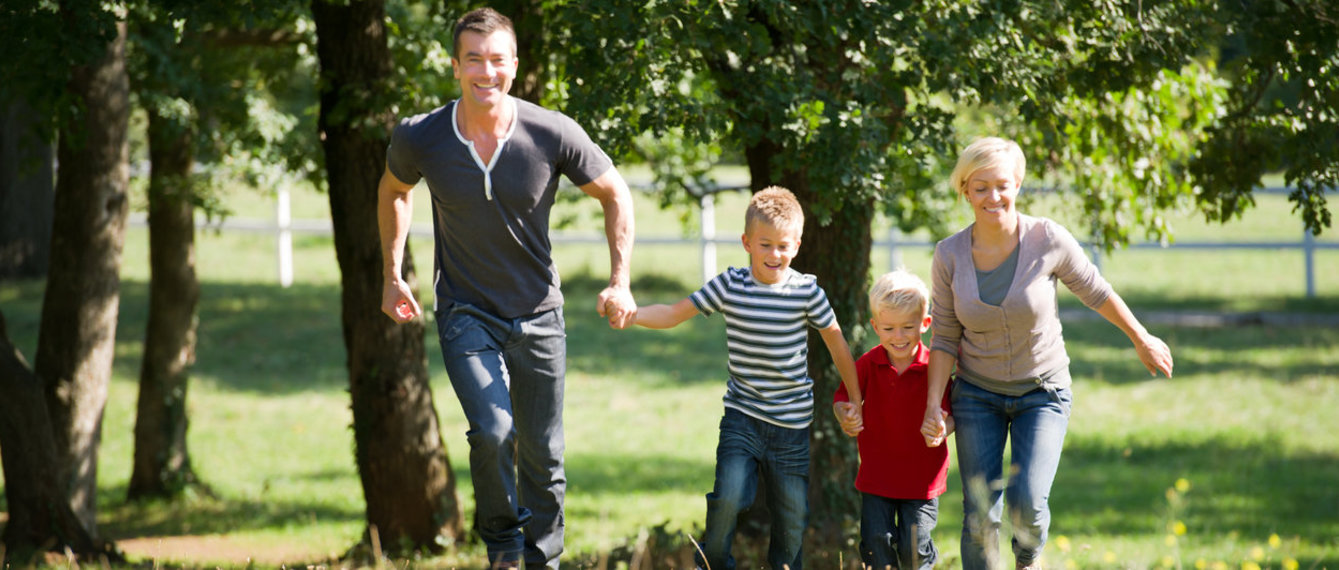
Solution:
<svg viewBox="0 0 1339 570">
<path fill-rule="evenodd" d="M 170 498 L 197 483 L 186 451 L 186 388 L 195 361 L 195 219 L 190 130 L 149 114 L 149 326 L 139 369 L 127 499 Z"/>
</svg>

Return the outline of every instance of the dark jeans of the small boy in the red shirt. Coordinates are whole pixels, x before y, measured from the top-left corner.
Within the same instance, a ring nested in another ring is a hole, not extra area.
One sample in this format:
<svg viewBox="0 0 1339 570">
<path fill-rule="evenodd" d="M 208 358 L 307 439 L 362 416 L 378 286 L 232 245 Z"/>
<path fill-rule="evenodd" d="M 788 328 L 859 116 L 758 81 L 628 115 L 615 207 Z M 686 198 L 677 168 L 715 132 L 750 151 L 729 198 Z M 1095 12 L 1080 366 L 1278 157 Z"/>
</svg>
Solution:
<svg viewBox="0 0 1339 570">
<path fill-rule="evenodd" d="M 939 549 L 931 531 L 939 523 L 939 499 L 889 499 L 862 492 L 860 559 L 876 570 L 931 570 Z"/>
</svg>

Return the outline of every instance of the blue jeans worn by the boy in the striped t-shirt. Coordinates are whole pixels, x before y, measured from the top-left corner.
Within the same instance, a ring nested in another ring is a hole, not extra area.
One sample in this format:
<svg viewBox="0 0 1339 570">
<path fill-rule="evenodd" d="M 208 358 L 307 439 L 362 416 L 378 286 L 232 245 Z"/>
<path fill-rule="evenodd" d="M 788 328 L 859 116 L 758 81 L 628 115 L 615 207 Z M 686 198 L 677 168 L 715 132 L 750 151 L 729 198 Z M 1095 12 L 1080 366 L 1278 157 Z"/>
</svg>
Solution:
<svg viewBox="0 0 1339 570">
<path fill-rule="evenodd" d="M 767 563 L 801 570 L 809 522 L 809 428 L 791 430 L 726 408 L 716 446 L 716 486 L 707 494 L 702 551 L 711 570 L 732 570 L 730 547 L 739 512 L 754 502 L 759 476 L 771 511 Z M 700 565 L 703 561 L 698 561 Z"/>
</svg>

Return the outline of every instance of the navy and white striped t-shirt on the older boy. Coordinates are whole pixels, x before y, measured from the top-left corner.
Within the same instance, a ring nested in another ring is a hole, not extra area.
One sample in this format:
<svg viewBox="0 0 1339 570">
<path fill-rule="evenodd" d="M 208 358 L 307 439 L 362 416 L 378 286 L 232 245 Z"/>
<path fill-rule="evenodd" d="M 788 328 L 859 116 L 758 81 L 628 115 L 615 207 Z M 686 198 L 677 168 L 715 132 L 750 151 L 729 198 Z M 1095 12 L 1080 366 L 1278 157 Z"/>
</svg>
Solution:
<svg viewBox="0 0 1339 570">
<path fill-rule="evenodd" d="M 818 280 L 786 269 L 779 282 L 766 285 L 749 268 L 730 268 L 688 298 L 702 314 L 726 316 L 726 407 L 786 428 L 809 427 L 814 381 L 807 328 L 828 328 L 836 318 Z"/>
</svg>

